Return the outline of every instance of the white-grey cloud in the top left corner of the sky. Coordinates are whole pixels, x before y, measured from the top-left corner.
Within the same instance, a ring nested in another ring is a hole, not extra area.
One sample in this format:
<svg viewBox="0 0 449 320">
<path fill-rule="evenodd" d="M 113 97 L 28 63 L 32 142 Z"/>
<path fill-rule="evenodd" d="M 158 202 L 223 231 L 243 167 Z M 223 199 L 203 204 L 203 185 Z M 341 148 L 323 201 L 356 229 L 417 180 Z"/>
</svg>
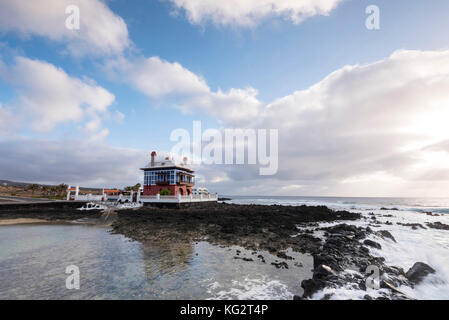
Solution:
<svg viewBox="0 0 449 320">
<path fill-rule="evenodd" d="M 66 8 L 80 9 L 80 29 L 66 28 Z M 75 56 L 116 55 L 130 45 L 123 19 L 99 0 L 0 0 L 0 31 L 64 43 Z"/>
</svg>

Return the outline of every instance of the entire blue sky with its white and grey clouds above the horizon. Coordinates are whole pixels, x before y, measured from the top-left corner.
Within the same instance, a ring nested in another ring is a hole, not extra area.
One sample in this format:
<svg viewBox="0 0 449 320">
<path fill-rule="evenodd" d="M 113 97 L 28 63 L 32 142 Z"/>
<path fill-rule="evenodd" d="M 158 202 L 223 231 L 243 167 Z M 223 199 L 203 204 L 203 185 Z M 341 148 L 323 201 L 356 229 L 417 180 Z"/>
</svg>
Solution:
<svg viewBox="0 0 449 320">
<path fill-rule="evenodd" d="M 447 12 L 447 0 L 0 0 L 0 179 L 142 182 L 151 151 L 169 154 L 173 131 L 200 121 L 278 132 L 272 175 L 194 164 L 213 192 L 447 197 Z"/>
</svg>

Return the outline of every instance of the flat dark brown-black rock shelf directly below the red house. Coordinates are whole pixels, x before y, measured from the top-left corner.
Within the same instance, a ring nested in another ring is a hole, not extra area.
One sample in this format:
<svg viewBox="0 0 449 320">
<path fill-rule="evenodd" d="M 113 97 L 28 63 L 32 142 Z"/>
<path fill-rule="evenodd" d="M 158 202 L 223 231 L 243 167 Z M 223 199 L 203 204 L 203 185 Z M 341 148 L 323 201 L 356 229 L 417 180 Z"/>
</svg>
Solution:
<svg viewBox="0 0 449 320">
<path fill-rule="evenodd" d="M 204 208 L 144 207 L 119 211 L 118 219 L 113 223 L 113 233 L 137 241 L 190 242 L 207 239 L 219 245 L 266 250 L 288 259 L 285 252 L 282 253 L 288 248 L 313 253 L 322 244 L 319 238 L 300 233 L 297 225 L 358 218 L 358 213 L 333 211 L 325 206 L 219 203 Z"/>
</svg>

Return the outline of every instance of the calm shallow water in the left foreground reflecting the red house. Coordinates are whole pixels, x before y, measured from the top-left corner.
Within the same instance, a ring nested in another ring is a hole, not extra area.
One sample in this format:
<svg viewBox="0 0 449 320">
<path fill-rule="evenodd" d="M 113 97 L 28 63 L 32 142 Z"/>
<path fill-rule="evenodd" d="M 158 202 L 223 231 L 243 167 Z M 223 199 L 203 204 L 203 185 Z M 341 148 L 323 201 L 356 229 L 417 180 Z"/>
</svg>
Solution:
<svg viewBox="0 0 449 320">
<path fill-rule="evenodd" d="M 234 259 L 252 258 L 253 262 Z M 257 258 L 265 257 L 266 263 Z M 310 278 L 312 257 L 279 258 L 239 247 L 140 243 L 83 225 L 0 227 L 0 299 L 291 299 Z M 80 270 L 67 289 L 66 267 Z"/>
</svg>

